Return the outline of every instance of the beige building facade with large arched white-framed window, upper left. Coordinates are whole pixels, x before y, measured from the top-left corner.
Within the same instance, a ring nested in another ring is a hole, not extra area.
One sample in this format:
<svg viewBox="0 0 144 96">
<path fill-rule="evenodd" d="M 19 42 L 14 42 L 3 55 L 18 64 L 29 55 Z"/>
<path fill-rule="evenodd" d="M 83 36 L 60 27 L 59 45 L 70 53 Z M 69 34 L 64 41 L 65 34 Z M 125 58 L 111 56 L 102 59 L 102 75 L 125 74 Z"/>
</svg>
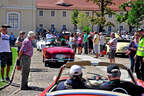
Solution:
<svg viewBox="0 0 144 96">
<path fill-rule="evenodd" d="M 36 29 L 36 1 L 35 0 L 0 0 L 0 25 L 8 24 L 18 36 L 20 30 L 26 33 Z"/>
</svg>

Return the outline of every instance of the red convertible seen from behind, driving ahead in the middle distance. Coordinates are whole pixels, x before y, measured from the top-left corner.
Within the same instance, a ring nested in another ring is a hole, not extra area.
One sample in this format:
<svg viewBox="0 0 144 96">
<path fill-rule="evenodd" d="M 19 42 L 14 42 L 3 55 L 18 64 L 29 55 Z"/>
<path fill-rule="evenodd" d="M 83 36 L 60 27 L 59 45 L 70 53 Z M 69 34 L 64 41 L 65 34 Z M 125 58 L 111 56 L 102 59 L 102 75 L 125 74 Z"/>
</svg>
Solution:
<svg viewBox="0 0 144 96">
<path fill-rule="evenodd" d="M 67 61 L 74 61 L 75 53 L 69 47 L 48 47 L 43 49 L 45 66 L 59 66 Z"/>
</svg>

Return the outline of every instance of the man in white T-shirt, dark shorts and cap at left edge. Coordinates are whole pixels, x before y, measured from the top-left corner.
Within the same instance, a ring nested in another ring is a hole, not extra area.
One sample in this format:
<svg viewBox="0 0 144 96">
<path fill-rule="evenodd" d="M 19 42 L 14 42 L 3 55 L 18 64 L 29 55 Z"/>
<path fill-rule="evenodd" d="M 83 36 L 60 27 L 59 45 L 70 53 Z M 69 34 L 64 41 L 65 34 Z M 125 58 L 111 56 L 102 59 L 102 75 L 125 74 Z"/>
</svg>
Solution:
<svg viewBox="0 0 144 96">
<path fill-rule="evenodd" d="M 10 26 L 4 24 L 0 29 L 0 64 L 1 64 L 1 81 L 4 82 L 4 68 L 7 65 L 6 69 L 6 80 L 9 82 L 9 71 L 10 66 L 12 65 L 12 53 L 10 49 L 9 35 L 7 34 L 7 28 Z"/>
</svg>

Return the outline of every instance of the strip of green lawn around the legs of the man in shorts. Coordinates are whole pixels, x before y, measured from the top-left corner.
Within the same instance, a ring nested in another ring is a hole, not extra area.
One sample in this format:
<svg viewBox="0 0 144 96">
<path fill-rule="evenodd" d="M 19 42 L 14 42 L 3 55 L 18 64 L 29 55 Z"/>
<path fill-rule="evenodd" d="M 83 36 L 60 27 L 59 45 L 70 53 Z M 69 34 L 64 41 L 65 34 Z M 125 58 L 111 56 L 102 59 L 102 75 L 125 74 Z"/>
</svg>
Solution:
<svg viewBox="0 0 144 96">
<path fill-rule="evenodd" d="M 15 66 L 15 62 L 16 62 L 16 58 L 17 58 L 17 49 L 16 48 L 12 48 L 12 56 L 13 56 L 13 64 L 10 68 L 9 77 L 11 77 L 11 75 L 12 75 L 12 72 L 13 72 L 13 69 L 14 69 L 14 66 Z M 1 70 L 1 68 L 0 68 L 0 70 Z M 6 67 L 5 67 L 5 71 L 4 71 L 4 77 L 5 76 L 6 76 Z M 0 80 L 1 80 L 1 74 L 0 74 Z M 5 82 L 0 81 L 0 87 L 4 86 L 6 84 L 7 84 L 6 81 Z"/>
</svg>

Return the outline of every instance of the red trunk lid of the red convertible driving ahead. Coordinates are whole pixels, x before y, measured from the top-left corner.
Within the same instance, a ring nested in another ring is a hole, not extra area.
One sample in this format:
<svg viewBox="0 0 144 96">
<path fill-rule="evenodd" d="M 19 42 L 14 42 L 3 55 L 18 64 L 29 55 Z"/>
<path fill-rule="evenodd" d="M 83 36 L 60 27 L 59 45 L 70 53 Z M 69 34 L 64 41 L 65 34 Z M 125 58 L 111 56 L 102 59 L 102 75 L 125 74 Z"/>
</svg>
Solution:
<svg viewBox="0 0 144 96">
<path fill-rule="evenodd" d="M 49 47 L 45 49 L 48 53 L 71 53 L 74 54 L 74 51 L 68 47 Z"/>
</svg>

